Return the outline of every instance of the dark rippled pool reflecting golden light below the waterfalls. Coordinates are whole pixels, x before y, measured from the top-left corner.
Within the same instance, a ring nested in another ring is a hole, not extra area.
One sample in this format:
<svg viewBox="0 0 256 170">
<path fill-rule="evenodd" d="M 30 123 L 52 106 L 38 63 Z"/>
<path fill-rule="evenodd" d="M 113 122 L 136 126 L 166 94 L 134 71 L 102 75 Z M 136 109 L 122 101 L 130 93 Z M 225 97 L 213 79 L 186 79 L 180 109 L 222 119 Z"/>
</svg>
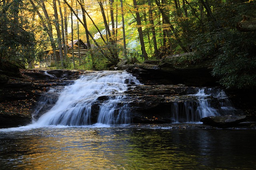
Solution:
<svg viewBox="0 0 256 170">
<path fill-rule="evenodd" d="M 48 127 L 0 132 L 0 169 L 255 169 L 256 131 Z"/>
</svg>

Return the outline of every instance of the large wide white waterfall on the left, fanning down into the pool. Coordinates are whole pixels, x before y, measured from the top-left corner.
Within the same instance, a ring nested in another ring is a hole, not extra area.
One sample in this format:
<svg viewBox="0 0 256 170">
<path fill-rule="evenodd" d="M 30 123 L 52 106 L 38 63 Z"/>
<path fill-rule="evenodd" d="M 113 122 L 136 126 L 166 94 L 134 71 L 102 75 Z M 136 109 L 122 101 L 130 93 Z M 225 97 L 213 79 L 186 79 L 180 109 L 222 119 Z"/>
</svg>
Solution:
<svg viewBox="0 0 256 170">
<path fill-rule="evenodd" d="M 38 126 L 80 126 L 95 122 L 108 125 L 130 123 L 128 105 L 124 102 L 126 96 L 122 93 L 128 90 L 129 84 L 139 83 L 125 71 L 86 74 L 74 84 L 66 86 L 59 93 L 54 106 L 35 123 Z"/>
</svg>

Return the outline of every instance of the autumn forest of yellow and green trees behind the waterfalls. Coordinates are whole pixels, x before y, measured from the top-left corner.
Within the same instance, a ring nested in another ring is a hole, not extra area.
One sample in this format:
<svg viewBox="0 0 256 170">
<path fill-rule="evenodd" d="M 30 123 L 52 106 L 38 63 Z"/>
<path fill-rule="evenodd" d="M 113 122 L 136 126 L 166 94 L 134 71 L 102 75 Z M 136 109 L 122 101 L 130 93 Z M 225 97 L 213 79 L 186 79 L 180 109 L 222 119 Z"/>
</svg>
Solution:
<svg viewBox="0 0 256 170">
<path fill-rule="evenodd" d="M 255 9 L 254 0 L 0 0 L 0 63 L 106 70 L 191 53 L 176 64 L 208 60 L 224 87 L 253 89 Z"/>
</svg>

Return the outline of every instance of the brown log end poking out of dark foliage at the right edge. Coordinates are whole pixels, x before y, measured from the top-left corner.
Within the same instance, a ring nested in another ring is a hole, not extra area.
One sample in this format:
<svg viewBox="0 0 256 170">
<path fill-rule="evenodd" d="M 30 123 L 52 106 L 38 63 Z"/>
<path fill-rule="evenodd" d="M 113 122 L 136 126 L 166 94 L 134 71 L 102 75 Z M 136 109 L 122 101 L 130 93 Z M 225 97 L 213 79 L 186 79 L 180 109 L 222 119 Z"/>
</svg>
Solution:
<svg viewBox="0 0 256 170">
<path fill-rule="evenodd" d="M 241 32 L 256 31 L 256 18 L 243 16 L 243 20 L 236 24 L 236 28 Z"/>
</svg>

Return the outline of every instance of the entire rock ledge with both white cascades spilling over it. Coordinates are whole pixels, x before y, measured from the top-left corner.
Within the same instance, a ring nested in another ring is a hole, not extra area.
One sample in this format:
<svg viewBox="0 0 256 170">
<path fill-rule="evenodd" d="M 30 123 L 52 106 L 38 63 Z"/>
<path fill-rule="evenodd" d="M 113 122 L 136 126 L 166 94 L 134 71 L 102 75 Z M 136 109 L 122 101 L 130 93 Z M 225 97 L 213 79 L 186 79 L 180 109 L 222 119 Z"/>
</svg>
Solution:
<svg viewBox="0 0 256 170">
<path fill-rule="evenodd" d="M 66 87 L 52 87 L 33 115 L 35 123 L 80 126 L 102 123 L 184 123 L 241 114 L 219 88 L 142 85 L 126 71 L 91 72 Z"/>
</svg>

